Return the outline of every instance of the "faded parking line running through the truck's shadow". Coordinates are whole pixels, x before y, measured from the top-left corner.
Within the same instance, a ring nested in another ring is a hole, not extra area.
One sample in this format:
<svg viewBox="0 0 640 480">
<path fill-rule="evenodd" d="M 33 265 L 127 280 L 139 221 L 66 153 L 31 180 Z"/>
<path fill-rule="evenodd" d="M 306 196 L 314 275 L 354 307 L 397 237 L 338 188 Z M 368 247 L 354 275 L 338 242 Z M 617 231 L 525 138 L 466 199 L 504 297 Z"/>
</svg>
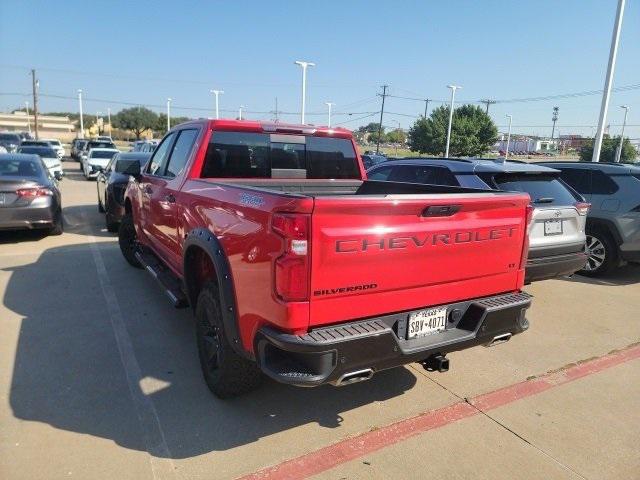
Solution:
<svg viewBox="0 0 640 480">
<path fill-rule="evenodd" d="M 90 223 L 86 221 L 85 224 L 89 225 Z M 140 421 L 145 446 L 149 453 L 153 478 L 157 480 L 176 478 L 175 465 L 171 459 L 171 452 L 169 451 L 162 426 L 160 425 L 158 412 L 151 398 L 146 396 L 140 388 L 140 381 L 143 379 L 142 371 L 136 359 L 131 337 L 124 323 L 122 310 L 120 309 L 118 298 L 109 279 L 102 254 L 100 253 L 95 237 L 91 234 L 89 234 L 88 237 L 91 254 L 98 272 L 100 288 L 102 289 L 102 294 L 107 304 L 113 334 L 116 339 L 116 344 L 118 345 L 120 361 L 122 362 L 127 377 L 129 393 L 131 394 L 131 399 L 133 400 L 138 420 Z"/>
</svg>

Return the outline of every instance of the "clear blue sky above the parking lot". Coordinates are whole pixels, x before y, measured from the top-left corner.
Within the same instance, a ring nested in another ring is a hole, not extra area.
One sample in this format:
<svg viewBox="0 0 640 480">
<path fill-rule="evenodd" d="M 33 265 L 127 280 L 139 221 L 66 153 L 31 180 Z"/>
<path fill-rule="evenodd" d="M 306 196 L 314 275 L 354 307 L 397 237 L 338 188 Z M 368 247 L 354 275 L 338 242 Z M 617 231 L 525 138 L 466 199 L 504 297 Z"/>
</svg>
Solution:
<svg viewBox="0 0 640 480">
<path fill-rule="evenodd" d="M 30 100 L 24 94 L 31 66 L 43 94 L 74 97 L 82 88 L 91 113 L 126 106 L 117 102 L 161 111 L 171 97 L 173 115 L 198 117 L 212 115 L 212 88 L 225 91 L 222 109 L 243 104 L 249 112 L 269 112 L 278 97 L 280 110 L 299 111 L 301 72 L 293 61 L 310 60 L 317 66 L 309 71 L 308 121 L 326 123 L 324 102 L 331 101 L 334 123 L 350 128 L 378 120 L 357 119 L 379 111 L 382 84 L 392 95 L 444 100 L 446 85 L 455 83 L 463 86 L 457 102 L 598 90 L 616 4 L 2 0 L 0 110 Z M 628 0 L 614 86 L 638 84 L 640 1 Z M 629 123 L 640 125 L 640 89 L 613 94 L 609 122 L 621 123 L 623 103 L 631 106 Z M 590 134 L 577 126 L 596 124 L 600 96 L 496 104 L 490 113 L 500 130 L 510 113 L 514 131 L 549 135 L 554 105 L 560 133 Z M 406 128 L 423 109 L 421 102 L 388 98 L 383 123 Z M 41 110 L 77 111 L 77 101 L 43 96 Z M 629 133 L 640 137 L 640 127 Z"/>
</svg>

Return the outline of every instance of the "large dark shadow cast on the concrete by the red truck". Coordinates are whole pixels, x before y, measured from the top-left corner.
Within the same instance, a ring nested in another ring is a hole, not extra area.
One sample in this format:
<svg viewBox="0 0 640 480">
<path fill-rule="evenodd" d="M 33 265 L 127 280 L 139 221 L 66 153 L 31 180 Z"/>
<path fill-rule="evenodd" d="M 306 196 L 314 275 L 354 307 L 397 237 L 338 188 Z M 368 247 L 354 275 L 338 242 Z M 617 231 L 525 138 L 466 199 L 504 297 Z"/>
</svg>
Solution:
<svg viewBox="0 0 640 480">
<path fill-rule="evenodd" d="M 134 380 L 153 400 L 172 458 L 228 450 L 310 423 L 336 428 L 344 412 L 416 384 L 410 370 L 399 368 L 344 388 L 265 381 L 249 395 L 218 400 L 201 378 L 191 312 L 165 304 L 144 272 L 111 256 L 117 250 L 102 255 L 140 365 L 142 378 Z M 9 398 L 15 417 L 146 450 L 89 244 L 51 248 L 34 263 L 6 270 L 4 304 L 23 317 Z M 160 387 L 144 388 L 149 378 Z"/>
</svg>

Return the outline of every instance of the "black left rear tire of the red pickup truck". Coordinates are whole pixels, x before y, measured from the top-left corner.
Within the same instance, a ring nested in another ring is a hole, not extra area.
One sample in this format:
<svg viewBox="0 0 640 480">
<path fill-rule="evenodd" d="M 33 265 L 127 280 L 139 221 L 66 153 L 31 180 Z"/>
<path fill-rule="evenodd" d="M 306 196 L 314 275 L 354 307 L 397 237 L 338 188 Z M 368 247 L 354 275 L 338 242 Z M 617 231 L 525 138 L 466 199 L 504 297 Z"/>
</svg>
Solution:
<svg viewBox="0 0 640 480">
<path fill-rule="evenodd" d="M 208 282 L 196 304 L 196 342 L 204 380 L 218 398 L 232 398 L 260 385 L 258 366 L 238 355 L 226 338 L 217 287 Z"/>
</svg>

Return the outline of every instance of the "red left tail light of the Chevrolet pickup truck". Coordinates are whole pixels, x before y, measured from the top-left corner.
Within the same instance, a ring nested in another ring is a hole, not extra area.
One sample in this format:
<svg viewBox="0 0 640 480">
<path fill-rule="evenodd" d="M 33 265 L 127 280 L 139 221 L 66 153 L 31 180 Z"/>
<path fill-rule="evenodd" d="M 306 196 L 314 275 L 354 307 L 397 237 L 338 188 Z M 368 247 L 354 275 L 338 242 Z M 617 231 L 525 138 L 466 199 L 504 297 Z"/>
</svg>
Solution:
<svg viewBox="0 0 640 480">
<path fill-rule="evenodd" d="M 284 240 L 284 252 L 275 261 L 276 295 L 286 302 L 309 299 L 309 216 L 276 213 L 273 231 Z"/>
</svg>

